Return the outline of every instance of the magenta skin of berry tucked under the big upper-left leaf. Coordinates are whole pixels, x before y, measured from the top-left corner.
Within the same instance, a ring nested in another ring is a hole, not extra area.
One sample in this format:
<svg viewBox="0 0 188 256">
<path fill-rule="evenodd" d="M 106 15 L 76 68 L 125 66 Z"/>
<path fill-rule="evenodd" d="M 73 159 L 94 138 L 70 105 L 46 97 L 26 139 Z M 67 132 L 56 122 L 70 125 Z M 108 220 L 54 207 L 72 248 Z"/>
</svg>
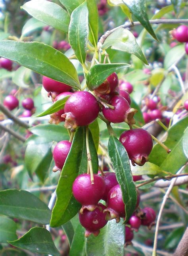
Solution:
<svg viewBox="0 0 188 256">
<path fill-rule="evenodd" d="M 42 85 L 47 92 L 68 92 L 71 90 L 71 86 L 55 81 L 49 77 L 42 77 Z"/>
</svg>

